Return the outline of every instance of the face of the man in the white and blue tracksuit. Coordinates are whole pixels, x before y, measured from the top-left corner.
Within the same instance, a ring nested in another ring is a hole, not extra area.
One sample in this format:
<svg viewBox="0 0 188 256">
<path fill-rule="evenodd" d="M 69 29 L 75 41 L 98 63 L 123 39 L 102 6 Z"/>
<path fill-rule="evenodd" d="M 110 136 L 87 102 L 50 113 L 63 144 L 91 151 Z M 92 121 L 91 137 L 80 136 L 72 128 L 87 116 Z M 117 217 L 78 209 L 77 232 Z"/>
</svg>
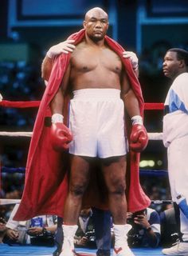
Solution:
<svg viewBox="0 0 188 256">
<path fill-rule="evenodd" d="M 163 62 L 163 73 L 167 78 L 175 78 L 179 74 L 181 61 L 177 59 L 177 53 L 167 51 Z"/>
</svg>

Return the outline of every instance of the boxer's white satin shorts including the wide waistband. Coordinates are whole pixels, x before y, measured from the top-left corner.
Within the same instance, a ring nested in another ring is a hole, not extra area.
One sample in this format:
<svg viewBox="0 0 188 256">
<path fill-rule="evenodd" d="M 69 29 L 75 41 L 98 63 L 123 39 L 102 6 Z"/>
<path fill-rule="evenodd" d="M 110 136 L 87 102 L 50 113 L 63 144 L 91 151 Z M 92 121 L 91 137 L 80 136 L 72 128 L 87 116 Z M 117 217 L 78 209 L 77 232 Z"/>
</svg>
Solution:
<svg viewBox="0 0 188 256">
<path fill-rule="evenodd" d="M 127 154 L 124 104 L 117 89 L 73 91 L 69 128 L 73 140 L 69 153 L 110 158 Z"/>
</svg>

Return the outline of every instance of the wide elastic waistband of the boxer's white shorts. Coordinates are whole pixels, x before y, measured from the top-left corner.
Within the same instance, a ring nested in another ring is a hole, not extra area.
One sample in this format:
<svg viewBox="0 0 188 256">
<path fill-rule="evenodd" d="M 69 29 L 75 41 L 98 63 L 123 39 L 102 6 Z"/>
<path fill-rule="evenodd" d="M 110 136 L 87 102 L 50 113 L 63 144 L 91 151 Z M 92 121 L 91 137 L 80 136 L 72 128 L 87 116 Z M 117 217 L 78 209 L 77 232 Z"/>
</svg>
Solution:
<svg viewBox="0 0 188 256">
<path fill-rule="evenodd" d="M 74 98 L 81 98 L 87 100 L 88 98 L 120 98 L 120 90 L 119 89 L 111 89 L 111 88 L 93 88 L 93 89 L 80 89 L 73 90 Z"/>
</svg>

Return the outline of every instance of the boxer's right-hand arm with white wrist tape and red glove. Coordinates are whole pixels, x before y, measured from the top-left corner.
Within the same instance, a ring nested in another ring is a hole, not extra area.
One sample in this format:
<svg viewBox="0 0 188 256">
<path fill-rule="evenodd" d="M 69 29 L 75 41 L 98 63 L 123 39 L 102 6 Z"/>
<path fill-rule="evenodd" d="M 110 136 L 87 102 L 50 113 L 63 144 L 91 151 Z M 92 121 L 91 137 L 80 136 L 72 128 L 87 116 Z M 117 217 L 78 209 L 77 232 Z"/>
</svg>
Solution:
<svg viewBox="0 0 188 256">
<path fill-rule="evenodd" d="M 147 131 L 143 126 L 143 118 L 140 115 L 139 101 L 134 91 L 131 89 L 126 72 L 123 72 L 121 98 L 123 99 L 125 110 L 132 122 L 130 148 L 135 152 L 141 152 L 147 146 Z"/>
</svg>

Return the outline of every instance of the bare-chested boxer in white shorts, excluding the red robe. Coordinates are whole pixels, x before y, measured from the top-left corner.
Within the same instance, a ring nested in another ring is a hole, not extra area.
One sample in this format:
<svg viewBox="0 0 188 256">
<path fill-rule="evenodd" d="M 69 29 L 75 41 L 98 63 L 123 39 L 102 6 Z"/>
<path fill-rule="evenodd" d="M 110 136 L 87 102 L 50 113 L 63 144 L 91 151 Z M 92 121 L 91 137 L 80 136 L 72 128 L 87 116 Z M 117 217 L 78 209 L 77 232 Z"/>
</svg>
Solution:
<svg viewBox="0 0 188 256">
<path fill-rule="evenodd" d="M 139 137 L 140 134 L 144 137 L 143 147 L 146 146 L 147 134 L 140 117 L 139 102 L 131 90 L 127 74 L 123 72 L 122 62 L 104 43 L 108 14 L 100 8 L 89 10 L 85 15 L 84 29 L 85 39 L 72 52 L 61 86 L 51 102 L 54 130 L 60 127 L 65 130 L 68 142 L 72 133 L 72 142 L 69 144 L 71 174 L 65 202 L 65 238 L 61 256 L 73 255 L 73 237 L 82 197 L 88 185 L 89 166 L 96 156 L 101 159 L 108 187 L 116 240 L 114 255 L 133 255 L 126 242 L 130 227 L 126 224 L 127 202 L 124 193 L 127 154 L 124 108 L 134 124 L 137 124 L 133 126 L 133 136 Z M 65 128 L 62 115 L 68 84 L 72 86 L 73 92 L 69 116 L 71 132 Z M 140 150 L 137 141 L 133 141 L 132 146 Z"/>
</svg>

